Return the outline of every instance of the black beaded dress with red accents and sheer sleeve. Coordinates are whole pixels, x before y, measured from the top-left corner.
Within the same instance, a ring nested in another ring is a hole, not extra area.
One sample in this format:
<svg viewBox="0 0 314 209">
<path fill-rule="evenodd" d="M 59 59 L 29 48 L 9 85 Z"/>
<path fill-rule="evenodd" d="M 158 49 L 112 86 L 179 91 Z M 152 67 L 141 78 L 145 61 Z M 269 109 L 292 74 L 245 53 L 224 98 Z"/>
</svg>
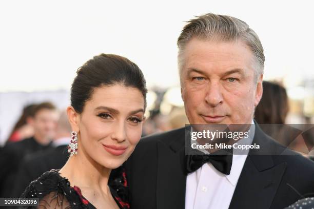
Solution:
<svg viewBox="0 0 314 209">
<path fill-rule="evenodd" d="M 77 186 L 70 186 L 67 178 L 60 176 L 59 170 L 45 172 L 42 176 L 32 181 L 22 194 L 21 198 L 38 198 L 39 205 L 24 206 L 20 208 L 56 208 L 56 209 L 94 209 L 93 206 L 83 195 L 81 189 Z M 121 209 L 129 209 L 130 206 L 125 201 L 123 190 L 126 187 L 125 173 L 121 179 L 116 179 L 113 186 L 109 186 L 111 195 L 116 204 Z M 122 187 L 121 187 L 122 185 Z M 115 188 L 113 188 L 115 187 Z M 120 194 L 119 194 L 120 193 Z"/>
</svg>

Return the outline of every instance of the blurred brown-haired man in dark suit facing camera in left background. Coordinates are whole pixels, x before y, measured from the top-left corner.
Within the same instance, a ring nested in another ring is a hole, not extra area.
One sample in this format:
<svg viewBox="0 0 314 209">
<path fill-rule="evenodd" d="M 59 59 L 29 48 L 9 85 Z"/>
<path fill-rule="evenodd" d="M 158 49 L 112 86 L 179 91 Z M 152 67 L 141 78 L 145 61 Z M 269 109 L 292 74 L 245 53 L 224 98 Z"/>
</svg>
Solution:
<svg viewBox="0 0 314 209">
<path fill-rule="evenodd" d="M 58 112 L 50 102 L 43 102 L 34 108 L 34 117 L 30 124 L 34 135 L 30 138 L 8 143 L 0 153 L 0 197 L 10 197 L 12 183 L 15 181 L 19 163 L 28 154 L 52 148 L 51 140 L 55 136 Z"/>
</svg>

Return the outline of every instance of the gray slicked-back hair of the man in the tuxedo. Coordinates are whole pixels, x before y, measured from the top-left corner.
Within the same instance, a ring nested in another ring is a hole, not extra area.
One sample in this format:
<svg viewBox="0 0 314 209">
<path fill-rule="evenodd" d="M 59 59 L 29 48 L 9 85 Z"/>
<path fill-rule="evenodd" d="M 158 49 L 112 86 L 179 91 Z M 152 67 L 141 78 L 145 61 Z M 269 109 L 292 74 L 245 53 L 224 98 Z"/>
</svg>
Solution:
<svg viewBox="0 0 314 209">
<path fill-rule="evenodd" d="M 256 83 L 258 77 L 263 74 L 265 56 L 258 35 L 238 18 L 207 13 L 189 20 L 178 38 L 178 67 L 181 85 L 184 68 L 184 50 L 191 38 L 213 41 L 242 40 L 253 53 Z"/>
</svg>

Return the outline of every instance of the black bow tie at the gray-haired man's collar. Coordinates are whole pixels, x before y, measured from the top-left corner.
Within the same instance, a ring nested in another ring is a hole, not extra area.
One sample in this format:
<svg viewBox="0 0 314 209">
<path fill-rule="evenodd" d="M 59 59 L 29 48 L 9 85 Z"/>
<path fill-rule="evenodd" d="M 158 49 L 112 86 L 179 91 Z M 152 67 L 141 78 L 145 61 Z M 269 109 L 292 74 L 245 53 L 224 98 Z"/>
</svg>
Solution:
<svg viewBox="0 0 314 209">
<path fill-rule="evenodd" d="M 223 174 L 230 174 L 232 165 L 232 149 L 219 150 L 214 154 L 186 155 L 186 174 L 192 173 L 202 167 L 206 162 L 211 164 Z M 222 153 L 222 154 L 220 154 Z M 231 153 L 231 154 L 230 154 Z"/>
</svg>

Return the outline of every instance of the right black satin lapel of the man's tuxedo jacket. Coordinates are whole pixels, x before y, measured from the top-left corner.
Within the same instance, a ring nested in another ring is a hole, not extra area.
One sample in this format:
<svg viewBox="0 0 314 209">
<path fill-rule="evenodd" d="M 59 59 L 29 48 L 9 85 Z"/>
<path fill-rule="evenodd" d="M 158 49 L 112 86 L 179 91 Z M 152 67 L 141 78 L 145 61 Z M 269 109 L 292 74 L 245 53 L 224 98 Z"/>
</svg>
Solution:
<svg viewBox="0 0 314 209">
<path fill-rule="evenodd" d="M 271 155 L 271 141 L 256 123 L 253 143 L 260 144 L 260 150 L 250 150 L 229 208 L 269 208 L 286 170 L 285 162 L 275 165 Z"/>
</svg>

